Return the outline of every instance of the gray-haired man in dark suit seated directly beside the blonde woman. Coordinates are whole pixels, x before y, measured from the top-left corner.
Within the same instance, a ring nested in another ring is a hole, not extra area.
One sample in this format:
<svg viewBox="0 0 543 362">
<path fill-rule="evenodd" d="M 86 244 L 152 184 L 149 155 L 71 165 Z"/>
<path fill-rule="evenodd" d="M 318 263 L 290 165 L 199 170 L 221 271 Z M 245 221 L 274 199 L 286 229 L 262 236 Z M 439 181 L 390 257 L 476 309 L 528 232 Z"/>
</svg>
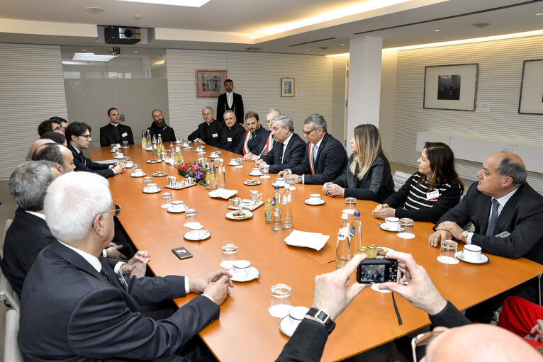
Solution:
<svg viewBox="0 0 543 362">
<path fill-rule="evenodd" d="M 303 137 L 309 142 L 302 163 L 279 172 L 279 177 L 289 176 L 296 183 L 323 185 L 335 180 L 347 166 L 347 153 L 340 141 L 326 132 L 322 115 L 310 114 L 303 121 Z"/>
</svg>

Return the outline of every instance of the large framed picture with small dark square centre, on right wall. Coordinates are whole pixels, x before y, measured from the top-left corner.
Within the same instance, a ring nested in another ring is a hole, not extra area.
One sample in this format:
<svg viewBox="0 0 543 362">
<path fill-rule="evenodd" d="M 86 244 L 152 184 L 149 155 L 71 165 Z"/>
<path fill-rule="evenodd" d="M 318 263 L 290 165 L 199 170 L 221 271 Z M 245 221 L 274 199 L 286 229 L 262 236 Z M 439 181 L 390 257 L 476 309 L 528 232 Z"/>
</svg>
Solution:
<svg viewBox="0 0 543 362">
<path fill-rule="evenodd" d="M 425 67 L 424 108 L 475 111 L 479 64 Z"/>
</svg>

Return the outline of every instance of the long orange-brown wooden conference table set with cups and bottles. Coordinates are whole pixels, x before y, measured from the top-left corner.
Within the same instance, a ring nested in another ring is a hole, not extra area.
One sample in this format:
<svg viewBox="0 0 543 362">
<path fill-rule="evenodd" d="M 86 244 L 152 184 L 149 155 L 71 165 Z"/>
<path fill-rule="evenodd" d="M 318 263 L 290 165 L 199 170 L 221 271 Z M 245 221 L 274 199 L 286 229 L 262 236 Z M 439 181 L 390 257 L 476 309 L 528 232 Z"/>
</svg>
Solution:
<svg viewBox="0 0 543 362">
<path fill-rule="evenodd" d="M 170 176 L 178 174 L 175 166 L 161 162 L 148 164 L 146 160 L 155 159 L 152 152 L 140 145 L 121 149 L 142 170 L 151 176 L 156 171 L 165 171 Z M 185 161 L 207 157 L 215 151 L 206 145 L 205 153 L 196 152 L 196 144 L 191 148 L 181 148 Z M 222 152 L 225 164 L 239 155 Z M 96 160 L 113 159 L 109 147 L 91 149 L 91 158 Z M 250 190 L 263 194 L 263 200 L 271 198 L 274 191 L 271 183 L 276 175 L 268 179 L 249 176 L 252 162 L 243 162 L 242 168 L 226 166 L 226 183 L 229 190 L 237 190 L 240 198 L 250 198 Z M 258 179 L 258 186 L 245 186 L 243 181 Z M 322 196 L 323 205 L 306 205 L 303 200 L 311 193 L 322 193 L 320 185 L 296 184 L 291 191 L 293 202 L 293 228 L 272 231 L 270 224 L 264 222 L 264 205 L 253 211 L 249 220 L 229 220 L 228 200 L 211 198 L 204 186 L 196 185 L 182 190 L 163 188 L 167 177 L 153 177 L 162 192 L 172 192 L 173 200 L 183 200 L 186 205 L 198 210 L 199 221 L 211 232 L 211 237 L 200 242 L 184 239 L 188 230 L 183 226 L 184 213 L 168 213 L 160 208 L 161 193 L 142 192 L 142 178 L 130 177 L 130 169 L 108 179 L 113 201 L 121 205 L 119 219 L 139 250 L 151 254 L 148 264 L 157 276 L 181 275 L 196 277 L 220 269 L 221 246 L 237 244 L 239 259 L 251 261 L 259 269 L 259 278 L 245 282 L 235 282 L 231 295 L 220 306 L 220 318 L 206 326 L 201 338 L 220 361 L 274 361 L 279 356 L 289 337 L 279 330 L 279 318 L 271 317 L 270 288 L 285 283 L 292 288 L 292 305 L 311 307 L 313 301 L 313 281 L 315 276 L 335 270 L 335 246 L 337 230 L 341 220 L 345 199 Z M 425 267 L 444 298 L 450 300 L 460 310 L 476 305 L 515 285 L 523 283 L 543 272 L 543 266 L 528 259 L 507 259 L 488 255 L 486 264 L 447 265 L 437 261 L 439 248 L 431 247 L 427 240 L 432 232 L 429 222 L 415 222 L 414 239 L 402 239 L 395 232 L 381 230 L 378 220 L 371 215 L 376 203 L 357 200 L 357 210 L 361 213 L 362 244 L 377 244 L 413 254 L 418 264 Z M 290 247 L 284 242 L 293 229 L 305 232 L 320 232 L 330 235 L 323 249 L 315 251 L 308 248 Z M 194 256 L 180 260 L 172 249 L 186 247 Z M 459 243 L 461 250 L 461 243 Z M 354 281 L 354 276 L 351 278 Z M 184 305 L 196 295 L 175 300 Z M 391 293 L 379 293 L 371 288 L 362 290 L 347 309 L 335 320 L 334 332 L 328 337 L 322 361 L 339 361 L 372 349 L 399 336 L 416 331 L 430 324 L 425 312 L 413 307 L 400 296 L 396 297 L 398 310 L 403 320 L 398 319 L 393 309 Z"/>
</svg>

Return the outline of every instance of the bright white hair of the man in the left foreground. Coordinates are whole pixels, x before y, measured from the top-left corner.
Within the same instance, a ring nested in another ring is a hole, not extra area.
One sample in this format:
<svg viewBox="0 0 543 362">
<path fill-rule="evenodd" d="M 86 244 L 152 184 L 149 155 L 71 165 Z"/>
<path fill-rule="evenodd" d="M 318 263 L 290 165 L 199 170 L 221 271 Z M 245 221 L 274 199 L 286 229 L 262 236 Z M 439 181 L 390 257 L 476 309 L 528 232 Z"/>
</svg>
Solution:
<svg viewBox="0 0 543 362">
<path fill-rule="evenodd" d="M 43 211 L 51 234 L 61 242 L 83 239 L 94 217 L 106 213 L 112 199 L 109 183 L 91 172 L 69 172 L 47 188 Z"/>
</svg>

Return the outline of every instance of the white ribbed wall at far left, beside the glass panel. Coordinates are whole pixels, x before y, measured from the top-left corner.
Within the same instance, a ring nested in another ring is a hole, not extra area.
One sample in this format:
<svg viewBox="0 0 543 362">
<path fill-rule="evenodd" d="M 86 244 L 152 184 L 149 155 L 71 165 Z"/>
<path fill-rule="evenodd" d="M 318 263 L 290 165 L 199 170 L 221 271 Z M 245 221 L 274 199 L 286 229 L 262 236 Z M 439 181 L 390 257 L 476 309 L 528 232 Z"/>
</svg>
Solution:
<svg viewBox="0 0 543 362">
<path fill-rule="evenodd" d="M 0 44 L 0 110 L 0 180 L 6 180 L 38 139 L 38 125 L 67 116 L 60 47 Z"/>
</svg>

